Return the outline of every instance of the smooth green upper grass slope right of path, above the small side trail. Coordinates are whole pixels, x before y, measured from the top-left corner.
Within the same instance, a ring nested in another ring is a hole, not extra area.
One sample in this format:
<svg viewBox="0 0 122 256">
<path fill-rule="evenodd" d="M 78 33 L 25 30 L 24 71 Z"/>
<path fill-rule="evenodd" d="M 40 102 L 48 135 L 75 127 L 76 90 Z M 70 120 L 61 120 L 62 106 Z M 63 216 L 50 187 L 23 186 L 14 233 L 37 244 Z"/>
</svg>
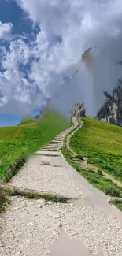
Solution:
<svg viewBox="0 0 122 256">
<path fill-rule="evenodd" d="M 83 117 L 83 127 L 70 140 L 76 154 L 122 181 L 122 128 Z"/>
</svg>

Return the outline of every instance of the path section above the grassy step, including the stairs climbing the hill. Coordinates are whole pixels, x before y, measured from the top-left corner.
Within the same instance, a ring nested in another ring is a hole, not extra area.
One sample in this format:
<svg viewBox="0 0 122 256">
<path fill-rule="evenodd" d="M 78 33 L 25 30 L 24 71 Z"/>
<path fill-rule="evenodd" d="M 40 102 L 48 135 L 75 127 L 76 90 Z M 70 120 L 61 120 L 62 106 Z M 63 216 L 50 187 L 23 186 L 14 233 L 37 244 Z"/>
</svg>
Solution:
<svg viewBox="0 0 122 256">
<path fill-rule="evenodd" d="M 74 121 L 77 126 L 78 123 Z M 57 152 L 60 153 L 61 145 L 63 145 L 63 140 L 65 135 L 70 132 L 72 128 L 68 128 L 66 131 L 61 132 L 56 138 L 52 139 L 50 144 L 44 147 L 44 150 L 48 150 L 52 153 L 52 147 L 57 148 Z M 52 143 L 54 146 L 52 146 Z M 40 150 L 43 152 L 43 149 Z M 60 154 L 61 156 L 61 154 Z M 41 158 L 41 156 L 39 156 Z M 28 160 L 27 164 L 21 169 L 21 171 L 13 177 L 12 186 L 28 188 L 31 190 L 37 191 L 46 191 L 49 193 L 57 193 L 57 195 L 65 195 L 70 197 L 79 197 L 83 196 L 82 184 L 79 180 L 75 180 L 72 177 L 72 172 L 70 171 L 69 165 L 64 165 L 64 162 L 61 159 L 57 158 L 57 165 L 51 165 L 51 157 L 42 156 L 41 161 L 37 165 L 36 161 L 33 158 Z M 59 162 L 59 164 L 58 164 Z"/>
</svg>

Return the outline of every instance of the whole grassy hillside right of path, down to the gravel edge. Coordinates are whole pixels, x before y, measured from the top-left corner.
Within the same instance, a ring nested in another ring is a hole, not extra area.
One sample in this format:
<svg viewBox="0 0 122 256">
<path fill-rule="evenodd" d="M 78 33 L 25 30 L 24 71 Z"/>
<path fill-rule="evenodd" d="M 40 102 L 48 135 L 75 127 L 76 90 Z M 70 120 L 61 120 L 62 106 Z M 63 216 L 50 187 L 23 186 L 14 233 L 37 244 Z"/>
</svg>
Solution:
<svg viewBox="0 0 122 256">
<path fill-rule="evenodd" d="M 82 117 L 82 120 L 83 126 L 70 139 L 70 147 L 76 152 L 76 161 L 70 150 L 62 149 L 62 153 L 94 187 L 113 197 L 111 203 L 122 210 L 122 128 L 87 117 Z M 83 157 L 88 158 L 88 166 L 94 166 L 94 169 L 82 169 L 80 160 Z M 111 177 L 103 176 L 102 172 Z"/>
</svg>

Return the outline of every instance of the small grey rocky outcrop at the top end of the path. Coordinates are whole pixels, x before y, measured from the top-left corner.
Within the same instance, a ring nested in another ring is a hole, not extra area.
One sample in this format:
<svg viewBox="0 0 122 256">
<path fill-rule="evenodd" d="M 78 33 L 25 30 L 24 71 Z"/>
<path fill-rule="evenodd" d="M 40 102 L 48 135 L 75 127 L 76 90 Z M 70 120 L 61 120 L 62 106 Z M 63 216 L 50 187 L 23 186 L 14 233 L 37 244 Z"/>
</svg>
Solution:
<svg viewBox="0 0 122 256">
<path fill-rule="evenodd" d="M 72 117 L 74 116 L 80 116 L 80 117 L 86 117 L 86 111 L 82 103 L 75 102 L 72 105 L 72 109 L 70 110 L 70 114 Z"/>
</svg>

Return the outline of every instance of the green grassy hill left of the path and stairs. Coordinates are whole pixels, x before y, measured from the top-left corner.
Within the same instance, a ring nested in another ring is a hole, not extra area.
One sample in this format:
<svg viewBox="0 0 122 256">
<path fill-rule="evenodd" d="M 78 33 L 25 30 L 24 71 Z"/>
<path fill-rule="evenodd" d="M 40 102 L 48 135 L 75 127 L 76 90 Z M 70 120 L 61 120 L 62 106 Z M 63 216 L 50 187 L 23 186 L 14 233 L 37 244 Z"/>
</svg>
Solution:
<svg viewBox="0 0 122 256">
<path fill-rule="evenodd" d="M 68 126 L 64 117 L 52 112 L 45 113 L 38 123 L 24 120 L 16 127 L 0 128 L 0 178 L 13 163 L 48 143 Z"/>
</svg>

